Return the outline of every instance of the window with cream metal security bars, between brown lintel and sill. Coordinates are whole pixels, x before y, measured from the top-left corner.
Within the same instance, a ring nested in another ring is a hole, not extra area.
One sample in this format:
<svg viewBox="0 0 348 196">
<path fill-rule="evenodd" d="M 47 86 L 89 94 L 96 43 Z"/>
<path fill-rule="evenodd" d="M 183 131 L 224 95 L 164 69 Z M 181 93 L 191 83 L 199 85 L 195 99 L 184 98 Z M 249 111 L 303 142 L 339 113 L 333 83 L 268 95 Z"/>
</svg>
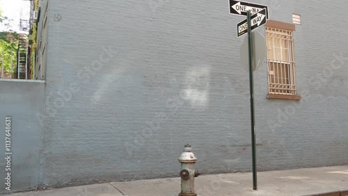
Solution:
<svg viewBox="0 0 348 196">
<path fill-rule="evenodd" d="M 266 27 L 269 94 L 296 96 L 293 32 Z"/>
</svg>

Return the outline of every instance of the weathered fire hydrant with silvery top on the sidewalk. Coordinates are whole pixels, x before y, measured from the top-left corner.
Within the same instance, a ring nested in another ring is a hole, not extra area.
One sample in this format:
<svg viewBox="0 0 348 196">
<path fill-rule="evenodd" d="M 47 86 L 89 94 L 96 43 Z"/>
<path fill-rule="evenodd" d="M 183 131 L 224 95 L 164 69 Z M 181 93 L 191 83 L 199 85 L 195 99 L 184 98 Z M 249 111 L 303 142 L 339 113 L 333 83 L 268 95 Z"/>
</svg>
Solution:
<svg viewBox="0 0 348 196">
<path fill-rule="evenodd" d="M 197 158 L 192 153 L 191 145 L 186 144 L 184 150 L 179 157 L 181 163 L 181 193 L 179 196 L 196 196 L 194 190 L 194 178 L 200 175 L 200 172 L 195 169 Z"/>
</svg>

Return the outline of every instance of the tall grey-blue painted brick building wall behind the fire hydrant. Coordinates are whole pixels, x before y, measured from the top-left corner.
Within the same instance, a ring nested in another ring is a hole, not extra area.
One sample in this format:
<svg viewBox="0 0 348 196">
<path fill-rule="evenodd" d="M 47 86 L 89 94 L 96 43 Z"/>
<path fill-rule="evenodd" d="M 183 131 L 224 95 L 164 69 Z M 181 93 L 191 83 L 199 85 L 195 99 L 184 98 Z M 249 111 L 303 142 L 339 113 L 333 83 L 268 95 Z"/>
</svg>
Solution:
<svg viewBox="0 0 348 196">
<path fill-rule="evenodd" d="M 302 21 L 302 99 L 268 100 L 266 61 L 255 71 L 259 170 L 348 164 L 348 3 L 253 2 Z M 250 171 L 243 19 L 228 1 L 49 1 L 42 186 L 177 176 L 187 143 L 204 174 Z"/>
</svg>

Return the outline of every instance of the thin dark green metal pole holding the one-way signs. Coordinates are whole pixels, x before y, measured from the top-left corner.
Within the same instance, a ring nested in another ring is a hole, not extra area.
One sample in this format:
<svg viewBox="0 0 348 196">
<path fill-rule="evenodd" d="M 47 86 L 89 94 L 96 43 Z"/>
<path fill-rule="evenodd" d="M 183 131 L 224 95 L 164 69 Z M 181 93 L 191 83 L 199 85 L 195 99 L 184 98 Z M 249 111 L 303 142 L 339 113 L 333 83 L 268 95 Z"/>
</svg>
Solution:
<svg viewBox="0 0 348 196">
<path fill-rule="evenodd" d="M 254 78 L 253 78 L 253 56 L 251 40 L 251 13 L 246 13 L 248 24 L 248 56 L 249 56 L 249 84 L 250 84 L 250 114 L 251 114 L 251 151 L 253 156 L 253 190 L 258 190 L 258 176 L 256 174 L 256 144 L 255 144 L 255 108 L 254 108 Z"/>
</svg>

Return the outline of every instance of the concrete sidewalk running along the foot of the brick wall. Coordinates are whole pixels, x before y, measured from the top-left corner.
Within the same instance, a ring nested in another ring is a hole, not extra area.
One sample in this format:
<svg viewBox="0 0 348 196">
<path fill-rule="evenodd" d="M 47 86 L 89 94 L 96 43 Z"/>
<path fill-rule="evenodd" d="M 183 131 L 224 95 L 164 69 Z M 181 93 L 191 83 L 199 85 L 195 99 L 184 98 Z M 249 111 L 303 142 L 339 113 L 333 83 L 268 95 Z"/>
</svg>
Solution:
<svg viewBox="0 0 348 196">
<path fill-rule="evenodd" d="M 196 178 L 196 193 L 217 195 L 348 195 L 348 165 L 258 172 L 258 191 L 252 190 L 251 173 L 206 175 Z M 347 192 L 344 192 L 347 191 Z M 180 178 L 116 182 L 13 194 L 17 196 L 177 196 Z"/>
</svg>

